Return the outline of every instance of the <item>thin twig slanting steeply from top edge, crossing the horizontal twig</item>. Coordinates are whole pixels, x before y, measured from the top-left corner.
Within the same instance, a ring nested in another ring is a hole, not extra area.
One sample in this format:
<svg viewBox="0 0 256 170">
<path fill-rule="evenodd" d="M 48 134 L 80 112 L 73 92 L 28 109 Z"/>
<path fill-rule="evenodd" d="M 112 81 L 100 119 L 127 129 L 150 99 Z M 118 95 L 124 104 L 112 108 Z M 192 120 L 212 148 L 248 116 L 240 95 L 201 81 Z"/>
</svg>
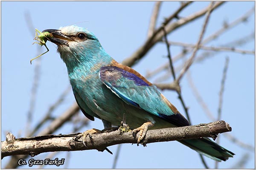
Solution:
<svg viewBox="0 0 256 170">
<path fill-rule="evenodd" d="M 189 58 L 188 62 L 186 62 L 184 68 L 180 71 L 180 75 L 178 76 L 177 78 L 177 82 L 180 82 L 180 79 L 183 77 L 183 75 L 186 73 L 186 71 L 189 69 L 189 67 L 192 65 L 192 62 L 195 58 L 195 54 L 197 53 L 198 51 L 198 48 L 199 46 L 201 45 L 201 41 L 202 41 L 202 38 L 204 36 L 204 32 L 206 30 L 206 26 L 208 24 L 208 21 L 209 21 L 209 17 L 210 17 L 210 14 L 212 12 L 212 6 L 213 6 L 214 2 L 212 1 L 211 4 L 209 5 L 208 7 L 208 11 L 207 11 L 207 14 L 206 14 L 206 18 L 205 18 L 205 21 L 204 21 L 204 25 L 203 25 L 203 28 L 202 28 L 202 31 L 200 33 L 200 36 L 198 38 L 198 42 L 196 43 L 196 46 L 193 50 L 193 53 L 192 53 L 192 56 Z"/>
</svg>

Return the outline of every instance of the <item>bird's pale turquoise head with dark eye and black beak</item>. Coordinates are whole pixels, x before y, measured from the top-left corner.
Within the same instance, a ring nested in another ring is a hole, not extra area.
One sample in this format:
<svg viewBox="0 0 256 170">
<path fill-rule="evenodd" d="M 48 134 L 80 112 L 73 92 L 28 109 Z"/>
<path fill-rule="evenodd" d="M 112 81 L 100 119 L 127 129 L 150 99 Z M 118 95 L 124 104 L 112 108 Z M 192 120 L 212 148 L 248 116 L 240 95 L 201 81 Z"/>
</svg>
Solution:
<svg viewBox="0 0 256 170">
<path fill-rule="evenodd" d="M 66 26 L 56 29 L 47 29 L 50 42 L 58 45 L 58 52 L 67 67 L 81 63 L 93 64 L 99 57 L 108 56 L 95 35 L 85 28 Z"/>
</svg>

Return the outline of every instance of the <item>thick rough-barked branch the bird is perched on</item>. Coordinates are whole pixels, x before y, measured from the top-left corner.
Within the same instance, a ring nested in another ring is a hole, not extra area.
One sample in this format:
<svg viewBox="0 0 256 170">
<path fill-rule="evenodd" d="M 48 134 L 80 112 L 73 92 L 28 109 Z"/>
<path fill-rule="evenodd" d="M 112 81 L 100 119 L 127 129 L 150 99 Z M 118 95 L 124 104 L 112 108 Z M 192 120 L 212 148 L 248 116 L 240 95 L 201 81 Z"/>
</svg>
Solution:
<svg viewBox="0 0 256 170">
<path fill-rule="evenodd" d="M 172 127 L 165 129 L 148 130 L 145 136 L 146 143 L 166 142 L 174 140 L 195 139 L 201 137 L 216 137 L 218 133 L 231 131 L 232 128 L 225 121 L 217 121 L 208 124 L 200 124 L 184 127 Z M 86 138 L 87 147 L 83 142 L 75 142 L 74 138 L 78 134 L 70 135 L 45 135 L 30 138 L 20 138 L 1 142 L 2 159 L 11 155 L 35 156 L 39 153 L 55 151 L 75 151 L 92 150 L 99 151 L 104 148 L 122 143 L 137 143 L 137 138 L 133 137 L 132 131 L 120 133 L 119 130 L 93 134 L 93 140 L 89 136 Z"/>
</svg>

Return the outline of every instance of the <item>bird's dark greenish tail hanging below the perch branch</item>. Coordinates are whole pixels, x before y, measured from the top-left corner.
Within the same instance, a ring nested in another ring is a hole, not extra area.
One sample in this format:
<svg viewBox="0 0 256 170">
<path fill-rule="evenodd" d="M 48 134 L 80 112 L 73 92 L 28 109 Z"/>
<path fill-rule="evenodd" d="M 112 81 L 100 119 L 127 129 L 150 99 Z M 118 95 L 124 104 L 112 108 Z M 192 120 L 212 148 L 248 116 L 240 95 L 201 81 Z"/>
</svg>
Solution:
<svg viewBox="0 0 256 170">
<path fill-rule="evenodd" d="M 235 155 L 208 138 L 188 139 L 179 142 L 215 161 L 226 161 Z"/>
</svg>

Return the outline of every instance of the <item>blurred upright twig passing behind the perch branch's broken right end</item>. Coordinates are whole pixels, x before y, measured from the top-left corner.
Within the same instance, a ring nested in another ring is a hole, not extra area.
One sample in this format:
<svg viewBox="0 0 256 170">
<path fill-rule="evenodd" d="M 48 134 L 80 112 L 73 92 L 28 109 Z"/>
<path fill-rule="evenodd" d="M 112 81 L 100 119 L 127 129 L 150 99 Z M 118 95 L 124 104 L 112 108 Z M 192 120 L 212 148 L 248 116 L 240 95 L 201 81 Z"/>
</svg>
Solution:
<svg viewBox="0 0 256 170">
<path fill-rule="evenodd" d="M 224 85 L 227 77 L 227 68 L 228 68 L 229 58 L 226 57 L 225 66 L 223 69 L 223 76 L 221 79 L 221 89 L 219 92 L 219 105 L 218 105 L 218 117 L 217 120 L 221 119 L 221 111 L 222 111 L 222 105 L 223 105 L 223 92 L 224 92 Z M 216 143 L 219 144 L 220 142 L 220 136 L 216 140 Z M 215 161 L 215 169 L 218 169 L 218 161 Z"/>
</svg>

